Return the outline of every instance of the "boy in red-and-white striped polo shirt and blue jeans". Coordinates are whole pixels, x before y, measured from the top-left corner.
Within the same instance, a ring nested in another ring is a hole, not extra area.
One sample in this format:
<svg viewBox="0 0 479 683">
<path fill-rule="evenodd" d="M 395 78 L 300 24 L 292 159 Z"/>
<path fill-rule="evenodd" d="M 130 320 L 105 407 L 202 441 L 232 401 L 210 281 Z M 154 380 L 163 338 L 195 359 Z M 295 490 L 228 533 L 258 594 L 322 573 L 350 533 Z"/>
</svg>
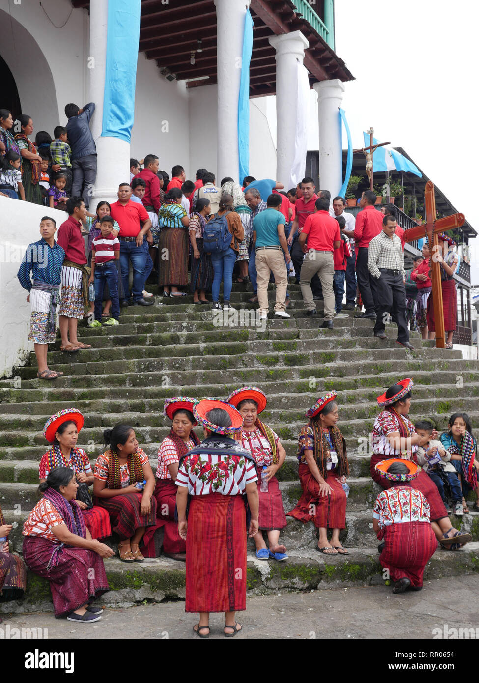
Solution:
<svg viewBox="0 0 479 683">
<path fill-rule="evenodd" d="M 92 242 L 92 274 L 88 284 L 95 284 L 95 320 L 90 327 L 102 326 L 102 300 L 105 282 L 108 283 L 111 298 L 111 318 L 105 325 L 118 325 L 120 320 L 120 299 L 118 298 L 118 270 L 115 260 L 120 259 L 120 240 L 111 232 L 115 221 L 111 216 L 101 219 L 101 234 Z"/>
</svg>

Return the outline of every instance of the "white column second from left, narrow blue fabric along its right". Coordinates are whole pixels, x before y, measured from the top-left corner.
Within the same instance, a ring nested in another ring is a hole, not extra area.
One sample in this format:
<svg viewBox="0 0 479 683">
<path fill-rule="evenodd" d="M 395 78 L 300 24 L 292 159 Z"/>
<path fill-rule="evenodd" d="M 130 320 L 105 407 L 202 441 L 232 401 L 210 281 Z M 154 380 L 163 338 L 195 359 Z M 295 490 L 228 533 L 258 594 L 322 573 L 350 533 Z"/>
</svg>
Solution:
<svg viewBox="0 0 479 683">
<path fill-rule="evenodd" d="M 218 166 L 221 178 L 238 178 L 238 97 L 245 14 L 251 0 L 215 0 L 217 16 Z"/>
</svg>

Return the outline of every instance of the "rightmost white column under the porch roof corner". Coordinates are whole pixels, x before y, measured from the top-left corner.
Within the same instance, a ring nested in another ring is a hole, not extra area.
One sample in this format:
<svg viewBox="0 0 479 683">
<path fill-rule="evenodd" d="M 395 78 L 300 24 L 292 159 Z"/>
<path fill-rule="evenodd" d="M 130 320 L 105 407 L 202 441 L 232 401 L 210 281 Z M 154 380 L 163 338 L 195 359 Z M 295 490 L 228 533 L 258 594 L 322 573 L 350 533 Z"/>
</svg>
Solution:
<svg viewBox="0 0 479 683">
<path fill-rule="evenodd" d="M 318 93 L 319 118 L 319 186 L 329 190 L 331 197 L 342 186 L 341 117 L 344 83 L 340 79 L 314 83 Z"/>
</svg>

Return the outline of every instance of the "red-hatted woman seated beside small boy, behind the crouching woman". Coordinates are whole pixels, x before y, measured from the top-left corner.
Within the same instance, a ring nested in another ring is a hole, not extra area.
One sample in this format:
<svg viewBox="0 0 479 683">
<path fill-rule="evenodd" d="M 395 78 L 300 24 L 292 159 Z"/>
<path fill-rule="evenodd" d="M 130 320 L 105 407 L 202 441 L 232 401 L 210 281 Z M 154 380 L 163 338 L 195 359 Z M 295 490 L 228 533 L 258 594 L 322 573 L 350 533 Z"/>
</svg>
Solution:
<svg viewBox="0 0 479 683">
<path fill-rule="evenodd" d="M 370 473 L 374 482 L 382 488 L 389 488 L 392 483 L 379 475 L 376 469 L 378 462 L 387 458 L 415 461 L 418 446 L 424 445 L 429 438 L 416 434 L 413 423 L 407 417 L 412 388 L 413 380 L 406 378 L 389 387 L 377 399 L 385 410 L 379 413 L 372 428 Z M 433 438 L 437 438 L 437 432 L 433 432 Z M 461 533 L 452 526 L 437 486 L 426 472 L 421 470 L 411 486 L 420 491 L 428 501 L 433 531 L 443 548 L 457 550 L 471 540 L 470 533 Z"/>
</svg>

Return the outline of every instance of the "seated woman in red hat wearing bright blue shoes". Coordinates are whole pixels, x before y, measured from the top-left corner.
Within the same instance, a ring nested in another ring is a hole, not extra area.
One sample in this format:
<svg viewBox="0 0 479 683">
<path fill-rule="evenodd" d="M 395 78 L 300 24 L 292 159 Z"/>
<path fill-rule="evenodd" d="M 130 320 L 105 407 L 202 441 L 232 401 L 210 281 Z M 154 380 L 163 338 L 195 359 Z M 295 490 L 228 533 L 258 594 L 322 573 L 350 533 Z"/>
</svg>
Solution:
<svg viewBox="0 0 479 683">
<path fill-rule="evenodd" d="M 258 417 L 266 408 L 266 396 L 258 387 L 242 387 L 228 396 L 228 403 L 243 415 L 243 427 L 236 439 L 241 441 L 245 451 L 249 451 L 256 462 L 258 474 L 258 495 L 260 497 L 259 531 L 253 538 L 256 544 L 256 557 L 267 560 L 288 559 L 286 546 L 279 545 L 279 531 L 286 527 L 283 499 L 279 490 L 276 473 L 284 463 L 286 451 L 279 436 Z M 261 490 L 261 473 L 266 470 L 265 491 Z M 268 534 L 269 550 L 266 548 L 262 532 Z"/>
</svg>

